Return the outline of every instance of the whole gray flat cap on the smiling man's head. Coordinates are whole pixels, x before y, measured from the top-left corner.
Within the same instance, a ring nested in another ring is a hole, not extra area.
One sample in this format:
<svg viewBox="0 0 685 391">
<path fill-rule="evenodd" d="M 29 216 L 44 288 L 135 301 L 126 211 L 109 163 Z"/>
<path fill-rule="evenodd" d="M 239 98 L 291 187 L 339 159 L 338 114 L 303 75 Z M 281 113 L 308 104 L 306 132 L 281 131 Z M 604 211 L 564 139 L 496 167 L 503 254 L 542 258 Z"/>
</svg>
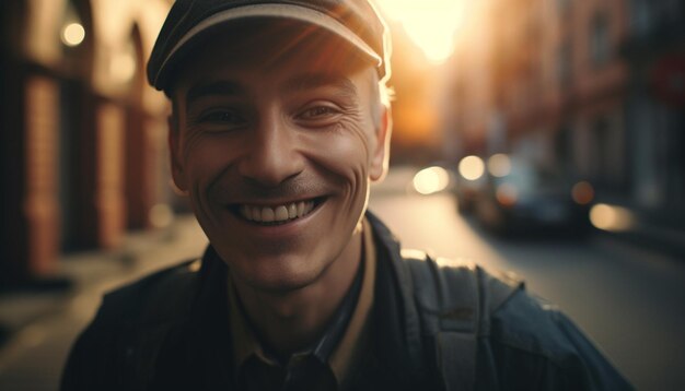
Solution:
<svg viewBox="0 0 685 391">
<path fill-rule="evenodd" d="M 325 28 L 368 56 L 381 80 L 390 75 L 387 28 L 368 0 L 176 0 L 152 49 L 148 81 L 164 91 L 172 69 L 198 38 L 218 26 L 264 17 Z"/>
</svg>

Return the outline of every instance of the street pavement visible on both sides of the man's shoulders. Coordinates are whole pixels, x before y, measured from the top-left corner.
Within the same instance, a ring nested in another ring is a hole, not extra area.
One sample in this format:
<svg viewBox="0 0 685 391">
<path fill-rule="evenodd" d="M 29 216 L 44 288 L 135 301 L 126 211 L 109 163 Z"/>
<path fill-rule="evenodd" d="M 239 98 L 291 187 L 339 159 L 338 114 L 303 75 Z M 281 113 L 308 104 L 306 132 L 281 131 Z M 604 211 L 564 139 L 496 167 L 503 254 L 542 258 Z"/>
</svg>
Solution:
<svg viewBox="0 0 685 391">
<path fill-rule="evenodd" d="M 600 235 L 587 240 L 497 239 L 460 216 L 455 206 L 449 193 L 407 194 L 402 180 L 393 177 L 374 189 L 370 202 L 370 209 L 385 220 L 405 247 L 474 260 L 489 270 L 510 270 L 523 276 L 530 291 L 574 319 L 637 389 L 685 389 L 685 374 L 680 370 L 685 351 L 682 260 Z M 119 268 L 112 273 L 115 277 L 84 284 L 63 310 L 19 332 L 0 351 L 0 390 L 55 390 L 68 347 L 92 316 L 102 292 L 162 266 L 160 259 L 167 262 L 199 254 L 204 247 L 199 228 L 191 218 L 182 221 L 184 225 L 174 235 L 154 239 L 159 248 L 142 252 L 135 273 Z M 82 262 L 95 270 L 94 264 L 104 260 Z M 83 275 L 88 271 L 79 273 L 88 280 Z"/>
</svg>

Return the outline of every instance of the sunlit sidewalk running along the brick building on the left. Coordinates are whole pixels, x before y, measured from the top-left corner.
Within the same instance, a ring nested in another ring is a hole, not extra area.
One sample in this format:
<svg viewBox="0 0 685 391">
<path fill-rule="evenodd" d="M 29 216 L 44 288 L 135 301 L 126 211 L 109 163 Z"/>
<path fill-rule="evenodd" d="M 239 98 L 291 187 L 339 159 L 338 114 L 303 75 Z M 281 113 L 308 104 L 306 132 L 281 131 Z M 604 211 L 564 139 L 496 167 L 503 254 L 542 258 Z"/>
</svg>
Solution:
<svg viewBox="0 0 685 391">
<path fill-rule="evenodd" d="M 154 270 L 197 258 L 207 239 L 193 215 L 176 216 L 166 228 L 130 233 L 120 248 L 67 254 L 58 262 L 56 277 L 62 288 L 8 292 L 0 295 L 0 358 L 2 349 L 21 330 L 57 315 L 77 297 L 103 293 Z"/>
</svg>

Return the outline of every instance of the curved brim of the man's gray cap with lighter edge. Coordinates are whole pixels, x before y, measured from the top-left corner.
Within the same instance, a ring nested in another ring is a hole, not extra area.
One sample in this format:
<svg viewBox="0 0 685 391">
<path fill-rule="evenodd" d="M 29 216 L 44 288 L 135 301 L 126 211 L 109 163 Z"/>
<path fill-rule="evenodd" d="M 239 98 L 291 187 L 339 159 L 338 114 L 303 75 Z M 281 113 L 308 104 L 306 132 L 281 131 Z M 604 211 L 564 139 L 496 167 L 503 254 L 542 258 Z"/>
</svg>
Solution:
<svg viewBox="0 0 685 391">
<path fill-rule="evenodd" d="M 213 27 L 253 17 L 288 19 L 320 26 L 349 42 L 362 54 L 368 56 L 373 62 L 375 62 L 376 67 L 383 66 L 383 59 L 381 56 L 376 54 L 365 42 L 359 38 L 357 34 L 352 33 L 342 23 L 323 12 L 294 4 L 252 4 L 220 11 L 190 28 L 162 61 L 162 66 L 153 78 L 152 85 L 162 90 L 161 84 L 164 84 L 162 82 L 164 74 L 169 71 L 174 58 L 190 40 L 195 39 L 202 33 L 212 29 Z"/>
</svg>

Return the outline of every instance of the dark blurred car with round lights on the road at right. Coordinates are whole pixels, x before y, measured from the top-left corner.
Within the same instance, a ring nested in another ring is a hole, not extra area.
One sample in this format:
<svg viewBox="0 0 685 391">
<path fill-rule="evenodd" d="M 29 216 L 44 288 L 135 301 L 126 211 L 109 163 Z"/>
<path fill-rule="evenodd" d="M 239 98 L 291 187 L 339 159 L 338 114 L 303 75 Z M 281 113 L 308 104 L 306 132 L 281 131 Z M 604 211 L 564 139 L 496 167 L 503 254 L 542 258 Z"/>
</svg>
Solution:
<svg viewBox="0 0 685 391">
<path fill-rule="evenodd" d="M 506 170 L 488 167 L 485 173 L 485 185 L 474 205 L 483 225 L 504 235 L 588 232 L 594 198 L 589 182 L 568 180 L 524 159 L 509 158 L 507 165 Z"/>
</svg>

